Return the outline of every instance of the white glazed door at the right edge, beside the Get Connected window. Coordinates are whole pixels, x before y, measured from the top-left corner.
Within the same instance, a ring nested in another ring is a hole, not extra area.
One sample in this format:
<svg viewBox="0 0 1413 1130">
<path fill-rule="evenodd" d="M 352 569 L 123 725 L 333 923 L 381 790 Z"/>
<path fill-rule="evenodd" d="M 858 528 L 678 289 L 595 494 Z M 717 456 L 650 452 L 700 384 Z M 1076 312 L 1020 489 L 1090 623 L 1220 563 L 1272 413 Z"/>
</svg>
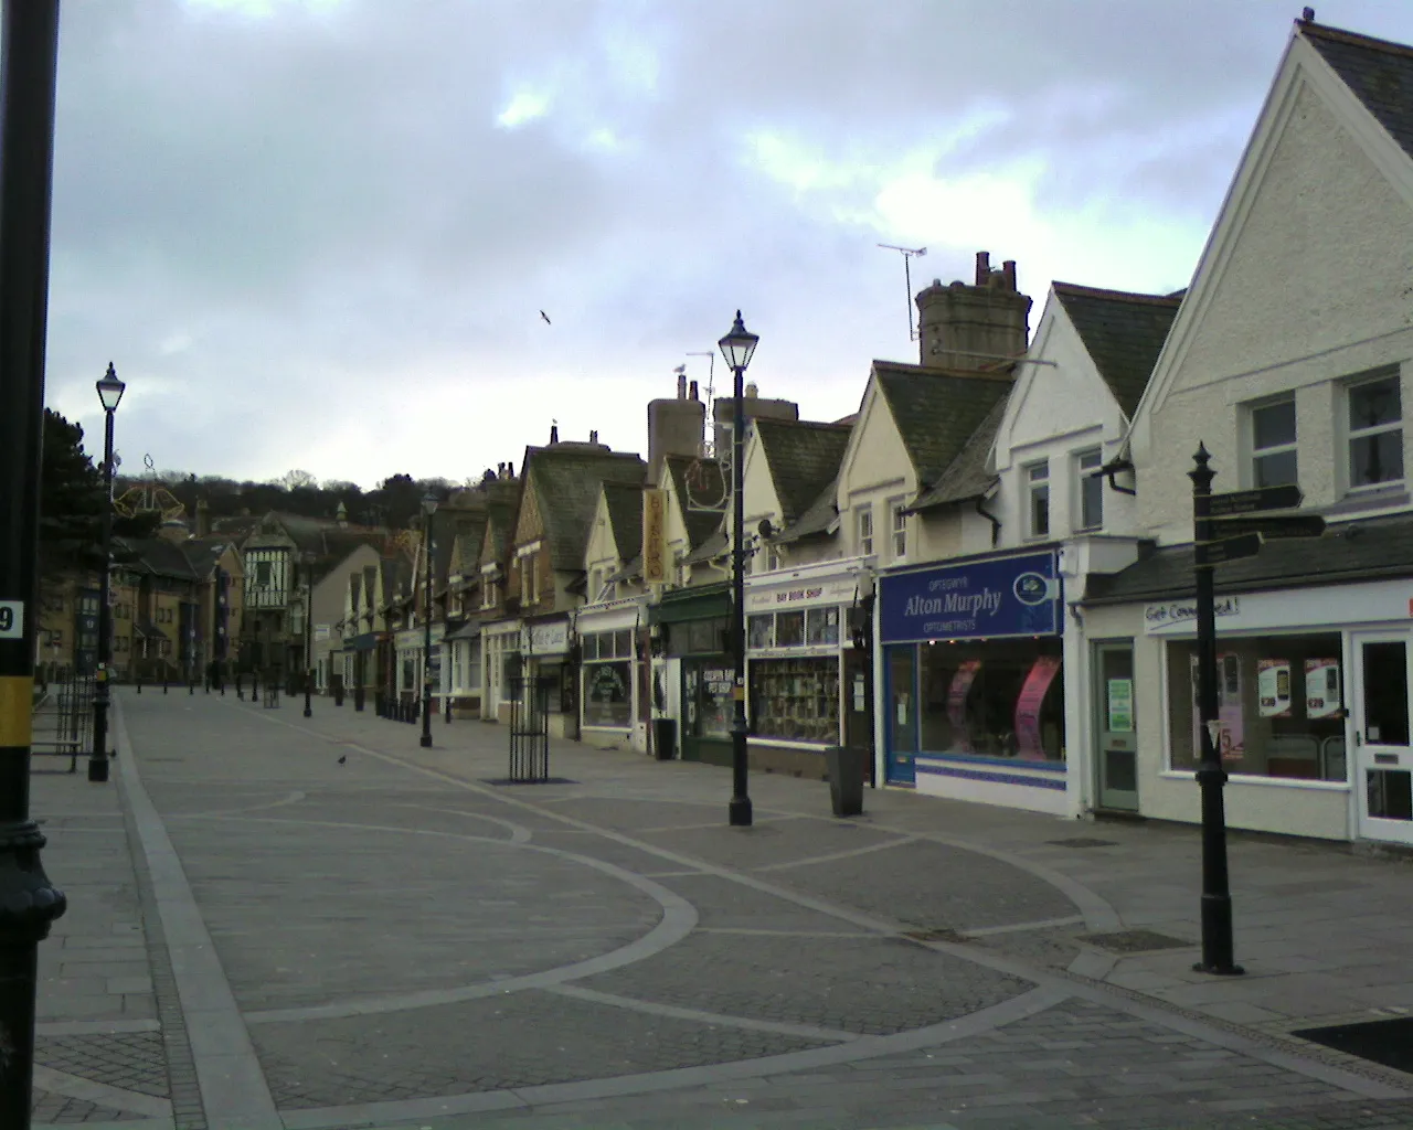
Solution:
<svg viewBox="0 0 1413 1130">
<path fill-rule="evenodd" d="M 1407 633 L 1355 633 L 1354 766 L 1359 835 L 1413 845 Z"/>
</svg>

